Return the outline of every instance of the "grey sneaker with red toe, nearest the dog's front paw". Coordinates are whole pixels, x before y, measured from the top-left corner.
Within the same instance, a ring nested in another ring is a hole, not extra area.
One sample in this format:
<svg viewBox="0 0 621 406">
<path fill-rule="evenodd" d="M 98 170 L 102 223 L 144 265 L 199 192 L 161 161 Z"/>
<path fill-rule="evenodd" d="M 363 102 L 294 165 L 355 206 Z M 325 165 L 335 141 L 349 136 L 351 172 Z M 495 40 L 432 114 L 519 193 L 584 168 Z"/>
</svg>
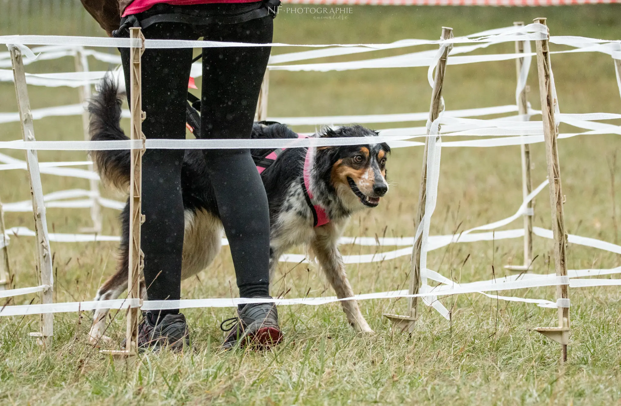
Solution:
<svg viewBox="0 0 621 406">
<path fill-rule="evenodd" d="M 271 299 L 270 296 L 253 297 Z M 226 323 L 230 323 L 230 327 L 225 327 Z M 273 303 L 247 303 L 237 310 L 237 317 L 227 318 L 220 328 L 230 332 L 220 347 L 222 350 L 231 350 L 237 344 L 240 348 L 269 348 L 283 341 L 283 333 L 278 327 L 278 311 Z"/>
</svg>

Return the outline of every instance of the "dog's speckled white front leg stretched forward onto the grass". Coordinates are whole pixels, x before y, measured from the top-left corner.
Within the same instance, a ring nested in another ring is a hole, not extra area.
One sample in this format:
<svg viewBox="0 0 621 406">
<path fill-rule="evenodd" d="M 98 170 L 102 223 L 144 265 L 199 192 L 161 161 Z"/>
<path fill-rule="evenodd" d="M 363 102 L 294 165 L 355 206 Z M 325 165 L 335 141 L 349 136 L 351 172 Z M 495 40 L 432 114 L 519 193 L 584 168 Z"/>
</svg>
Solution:
<svg viewBox="0 0 621 406">
<path fill-rule="evenodd" d="M 315 238 L 311 243 L 311 248 L 319 261 L 319 265 L 324 270 L 325 276 L 328 278 L 330 285 L 337 294 L 338 299 L 344 297 L 352 297 L 353 289 L 347 273 L 345 273 L 345 264 L 337 247 L 338 235 L 331 225 L 319 228 L 315 231 Z M 358 332 L 373 333 L 362 313 L 356 300 L 343 300 L 343 311 L 347 315 L 347 321 L 351 327 Z"/>
</svg>

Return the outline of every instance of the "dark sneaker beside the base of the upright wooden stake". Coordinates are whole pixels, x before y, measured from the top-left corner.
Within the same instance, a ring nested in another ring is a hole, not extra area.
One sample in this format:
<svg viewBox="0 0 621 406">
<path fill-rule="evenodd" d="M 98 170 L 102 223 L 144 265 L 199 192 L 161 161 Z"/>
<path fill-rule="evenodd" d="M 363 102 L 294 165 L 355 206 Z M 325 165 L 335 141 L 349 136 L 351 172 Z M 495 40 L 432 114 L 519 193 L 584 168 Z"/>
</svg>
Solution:
<svg viewBox="0 0 621 406">
<path fill-rule="evenodd" d="M 152 312 L 143 312 L 142 322 L 138 325 L 138 350 L 152 347 L 160 350 L 162 347 L 168 347 L 173 351 L 181 351 L 183 345 L 189 343 L 188 324 L 183 314 L 166 314 L 159 317 Z M 125 339 L 120 346 L 125 350 Z"/>
</svg>

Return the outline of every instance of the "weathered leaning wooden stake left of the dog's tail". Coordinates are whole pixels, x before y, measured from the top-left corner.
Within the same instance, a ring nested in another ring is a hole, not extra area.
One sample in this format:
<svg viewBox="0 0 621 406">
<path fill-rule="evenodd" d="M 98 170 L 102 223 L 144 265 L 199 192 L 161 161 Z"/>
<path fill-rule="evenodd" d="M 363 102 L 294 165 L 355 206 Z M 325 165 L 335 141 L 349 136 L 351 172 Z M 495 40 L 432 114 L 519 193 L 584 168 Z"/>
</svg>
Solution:
<svg viewBox="0 0 621 406">
<path fill-rule="evenodd" d="M 32 124 L 32 113 L 30 112 L 30 99 L 26 86 L 26 75 L 22 52 L 19 48 L 9 45 L 11 53 L 11 63 L 13 67 L 13 78 L 15 81 L 15 92 L 17 96 L 17 107 L 19 109 L 19 119 L 22 127 L 22 137 L 24 141 L 35 141 L 35 130 Z M 37 266 L 40 272 L 42 285 L 48 288 L 42 291 L 41 303 L 48 304 L 53 302 L 53 276 L 52 276 L 52 251 L 50 250 L 50 239 L 47 234 L 47 223 L 45 221 L 45 207 L 43 206 L 43 189 L 39 173 L 39 159 L 37 150 L 26 151 L 26 165 L 30 182 L 30 197 L 32 198 L 32 212 L 35 220 L 35 238 L 37 241 Z M 54 315 L 52 313 L 41 315 L 41 331 L 30 333 L 30 336 L 38 337 L 39 343 L 47 346 L 54 333 Z"/>
</svg>

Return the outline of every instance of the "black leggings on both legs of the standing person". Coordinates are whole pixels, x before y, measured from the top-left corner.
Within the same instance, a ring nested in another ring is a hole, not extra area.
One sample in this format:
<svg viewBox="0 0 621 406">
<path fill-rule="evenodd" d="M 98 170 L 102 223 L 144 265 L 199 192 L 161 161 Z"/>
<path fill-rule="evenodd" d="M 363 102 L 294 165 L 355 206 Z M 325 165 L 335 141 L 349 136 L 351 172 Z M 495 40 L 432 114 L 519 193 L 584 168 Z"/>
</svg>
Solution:
<svg viewBox="0 0 621 406">
<path fill-rule="evenodd" d="M 224 7 L 226 5 L 223 5 Z M 146 38 L 269 43 L 271 16 L 240 24 L 188 25 L 161 22 Z M 142 124 L 147 138 L 186 137 L 186 94 L 192 49 L 147 49 L 142 55 Z M 129 49 L 122 48 L 129 89 Z M 250 138 L 270 47 L 203 48 L 202 138 Z M 128 94 L 129 97 L 129 94 Z M 181 295 L 184 211 L 183 150 L 152 150 L 142 158 L 144 276 L 149 300 Z M 250 150 L 204 150 L 220 219 L 229 239 L 240 297 L 269 295 L 268 201 Z M 173 310 L 176 312 L 176 310 Z"/>
</svg>

